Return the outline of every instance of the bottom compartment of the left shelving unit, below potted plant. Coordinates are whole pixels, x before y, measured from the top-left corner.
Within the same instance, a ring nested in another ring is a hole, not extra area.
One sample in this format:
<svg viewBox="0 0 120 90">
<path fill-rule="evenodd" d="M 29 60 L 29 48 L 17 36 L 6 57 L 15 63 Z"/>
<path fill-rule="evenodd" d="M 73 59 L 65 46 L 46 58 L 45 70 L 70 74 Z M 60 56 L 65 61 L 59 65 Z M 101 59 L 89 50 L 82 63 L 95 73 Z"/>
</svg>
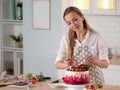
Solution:
<svg viewBox="0 0 120 90">
<path fill-rule="evenodd" d="M 23 50 L 2 49 L 2 71 L 10 75 L 23 73 Z"/>
</svg>

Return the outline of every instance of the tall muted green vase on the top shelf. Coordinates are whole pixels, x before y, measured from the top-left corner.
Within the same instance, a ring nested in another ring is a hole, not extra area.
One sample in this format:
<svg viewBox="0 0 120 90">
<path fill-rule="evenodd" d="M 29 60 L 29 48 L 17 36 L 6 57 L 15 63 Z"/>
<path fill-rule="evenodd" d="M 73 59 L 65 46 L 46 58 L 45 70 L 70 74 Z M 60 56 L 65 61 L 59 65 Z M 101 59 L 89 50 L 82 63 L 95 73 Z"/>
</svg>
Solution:
<svg viewBox="0 0 120 90">
<path fill-rule="evenodd" d="M 8 0 L 8 19 L 16 19 L 15 0 Z"/>
</svg>

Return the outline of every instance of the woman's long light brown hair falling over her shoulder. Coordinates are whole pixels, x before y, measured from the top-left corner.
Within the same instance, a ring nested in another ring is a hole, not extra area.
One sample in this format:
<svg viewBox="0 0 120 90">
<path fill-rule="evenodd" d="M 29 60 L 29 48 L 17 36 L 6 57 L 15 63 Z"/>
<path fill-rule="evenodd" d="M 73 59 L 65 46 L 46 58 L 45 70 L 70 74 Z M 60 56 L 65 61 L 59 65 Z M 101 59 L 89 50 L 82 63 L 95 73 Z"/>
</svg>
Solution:
<svg viewBox="0 0 120 90">
<path fill-rule="evenodd" d="M 81 12 L 78 8 L 76 8 L 76 7 L 74 7 L 74 6 L 71 6 L 71 7 L 68 7 L 68 8 L 65 9 L 64 14 L 63 14 L 63 19 L 64 19 L 64 20 L 65 20 L 65 16 L 66 16 L 67 14 L 69 14 L 70 12 L 75 12 L 75 13 L 77 13 L 79 16 L 83 16 L 83 17 L 84 17 L 84 15 L 82 14 L 82 12 Z M 84 26 L 84 28 L 85 28 L 86 30 L 94 31 L 94 30 L 89 26 L 89 24 L 87 23 L 85 17 L 84 17 L 84 20 L 83 20 L 83 26 Z M 68 58 L 72 58 L 72 57 L 73 57 L 73 48 L 74 48 L 74 44 L 75 44 L 74 41 L 75 41 L 75 39 L 77 38 L 76 32 L 70 29 L 69 32 L 68 32 L 68 37 L 69 37 Z"/>
</svg>

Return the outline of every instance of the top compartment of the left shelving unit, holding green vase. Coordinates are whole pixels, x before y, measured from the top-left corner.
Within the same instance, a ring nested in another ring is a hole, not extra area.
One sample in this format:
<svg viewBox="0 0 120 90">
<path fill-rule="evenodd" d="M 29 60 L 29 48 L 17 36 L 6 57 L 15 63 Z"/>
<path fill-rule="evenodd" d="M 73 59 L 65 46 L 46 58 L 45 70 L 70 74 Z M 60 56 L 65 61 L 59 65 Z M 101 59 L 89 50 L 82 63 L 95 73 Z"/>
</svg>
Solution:
<svg viewBox="0 0 120 90">
<path fill-rule="evenodd" d="M 22 0 L 2 0 L 1 1 L 1 11 L 2 11 L 2 18 L 9 19 L 9 20 L 17 20 L 19 12 L 17 4 L 18 2 L 22 2 Z M 22 17 L 22 16 L 21 16 Z M 19 19 L 18 19 L 19 20 Z"/>
</svg>

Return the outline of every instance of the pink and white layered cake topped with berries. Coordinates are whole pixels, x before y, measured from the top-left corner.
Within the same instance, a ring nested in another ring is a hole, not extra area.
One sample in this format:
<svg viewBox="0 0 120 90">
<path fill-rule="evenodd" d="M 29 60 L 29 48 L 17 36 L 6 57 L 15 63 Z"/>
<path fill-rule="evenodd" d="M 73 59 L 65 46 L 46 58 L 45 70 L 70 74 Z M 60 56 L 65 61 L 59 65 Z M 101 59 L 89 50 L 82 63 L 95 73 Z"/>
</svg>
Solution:
<svg viewBox="0 0 120 90">
<path fill-rule="evenodd" d="M 65 71 L 62 78 L 66 84 L 87 84 L 89 83 L 88 65 L 81 64 L 76 67 L 70 67 Z"/>
</svg>

